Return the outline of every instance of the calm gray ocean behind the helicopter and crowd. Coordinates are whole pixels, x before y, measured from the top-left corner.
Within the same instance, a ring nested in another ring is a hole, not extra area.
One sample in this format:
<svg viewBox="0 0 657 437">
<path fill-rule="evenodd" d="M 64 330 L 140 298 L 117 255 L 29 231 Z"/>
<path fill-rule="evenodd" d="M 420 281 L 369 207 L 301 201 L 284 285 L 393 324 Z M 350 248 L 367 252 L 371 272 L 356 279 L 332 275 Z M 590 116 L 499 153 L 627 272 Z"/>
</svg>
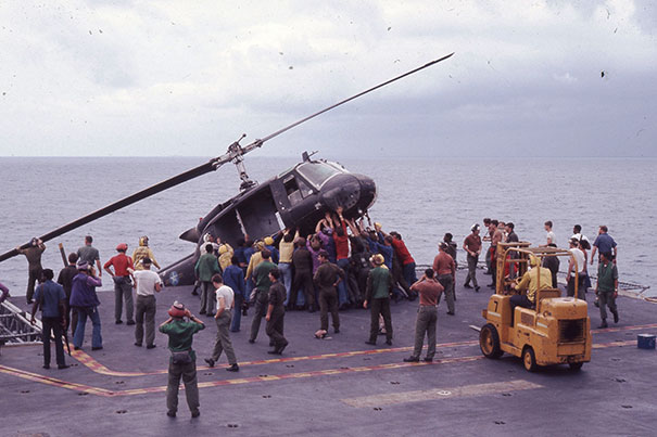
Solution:
<svg viewBox="0 0 657 437">
<path fill-rule="evenodd" d="M 349 158 L 350 171 L 371 177 L 378 187 L 372 220 L 396 230 L 417 264 L 431 264 L 445 232 L 460 248 L 470 226 L 483 217 L 511 221 L 520 240 L 543 244 L 546 220 L 554 222 L 559 247 L 568 247 L 572 226 L 591 242 L 606 224 L 618 243 L 620 280 L 652 286 L 657 280 L 655 244 L 645 243 L 657 213 L 655 158 Z M 2 253 L 118 198 L 203 164 L 204 157 L 0 157 L 0 250 Z M 249 155 L 252 179 L 265 181 L 299 162 L 294 157 Z M 62 268 L 58 243 L 66 253 L 93 235 L 104 262 L 116 244 L 128 253 L 141 235 L 162 267 L 193 252 L 178 236 L 216 204 L 239 191 L 235 167 L 188 181 L 47 243 L 42 264 Z M 564 269 L 564 266 L 561 267 Z M 482 283 L 485 280 L 482 275 Z M 13 296 L 25 295 L 27 262 L 18 256 L 0 264 L 0 282 Z M 104 284 L 103 288 L 110 288 Z M 644 292 L 657 296 L 657 288 Z"/>
</svg>

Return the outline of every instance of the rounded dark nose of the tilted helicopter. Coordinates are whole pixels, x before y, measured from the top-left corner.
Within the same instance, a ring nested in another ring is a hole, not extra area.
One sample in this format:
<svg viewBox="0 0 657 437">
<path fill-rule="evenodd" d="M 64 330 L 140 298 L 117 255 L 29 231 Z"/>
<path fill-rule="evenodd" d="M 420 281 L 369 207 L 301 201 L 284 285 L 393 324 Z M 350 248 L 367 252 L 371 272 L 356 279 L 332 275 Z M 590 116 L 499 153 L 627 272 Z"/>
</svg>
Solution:
<svg viewBox="0 0 657 437">
<path fill-rule="evenodd" d="M 376 198 L 377 188 L 363 175 L 338 175 L 321 188 L 321 201 L 330 209 L 341 206 L 346 210 L 367 210 Z"/>
</svg>

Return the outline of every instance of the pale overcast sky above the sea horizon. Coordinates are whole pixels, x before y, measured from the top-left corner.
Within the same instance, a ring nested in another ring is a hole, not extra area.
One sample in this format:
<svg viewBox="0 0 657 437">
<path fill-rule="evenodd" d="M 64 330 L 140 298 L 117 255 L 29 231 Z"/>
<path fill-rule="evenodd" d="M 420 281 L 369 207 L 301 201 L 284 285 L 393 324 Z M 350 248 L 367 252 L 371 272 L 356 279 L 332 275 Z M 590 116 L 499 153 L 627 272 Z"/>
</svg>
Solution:
<svg viewBox="0 0 657 437">
<path fill-rule="evenodd" d="M 3 1 L 0 155 L 657 156 L 655 1 Z"/>
</svg>

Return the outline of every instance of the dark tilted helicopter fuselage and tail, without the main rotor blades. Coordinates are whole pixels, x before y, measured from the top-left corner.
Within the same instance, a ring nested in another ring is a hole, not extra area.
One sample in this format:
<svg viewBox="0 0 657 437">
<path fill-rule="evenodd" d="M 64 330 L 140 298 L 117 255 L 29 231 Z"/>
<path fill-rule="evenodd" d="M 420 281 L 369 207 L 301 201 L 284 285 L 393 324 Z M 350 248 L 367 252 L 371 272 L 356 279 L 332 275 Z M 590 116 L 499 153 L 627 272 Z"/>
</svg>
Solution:
<svg viewBox="0 0 657 437">
<path fill-rule="evenodd" d="M 160 270 L 165 285 L 193 284 L 194 265 L 206 234 L 235 247 L 244 235 L 260 239 L 286 228 L 296 228 L 306 235 L 325 211 L 338 207 L 343 208 L 348 219 L 362 217 L 371 207 L 377 195 L 371 178 L 311 156 L 304 152 L 301 163 L 261 184 L 248 179 L 242 169 L 243 191 L 217 205 L 180 235 L 181 240 L 197 243 L 197 250 Z"/>
</svg>

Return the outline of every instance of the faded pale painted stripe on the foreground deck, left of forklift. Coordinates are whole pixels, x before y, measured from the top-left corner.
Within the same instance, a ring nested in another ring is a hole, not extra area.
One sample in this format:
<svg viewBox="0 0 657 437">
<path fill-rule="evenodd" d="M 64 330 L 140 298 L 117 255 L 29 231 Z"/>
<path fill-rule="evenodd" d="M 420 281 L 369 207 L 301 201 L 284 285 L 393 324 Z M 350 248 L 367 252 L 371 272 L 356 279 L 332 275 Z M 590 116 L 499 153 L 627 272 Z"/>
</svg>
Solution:
<svg viewBox="0 0 657 437">
<path fill-rule="evenodd" d="M 525 380 L 516 380 L 501 383 L 463 385 L 451 388 L 431 388 L 428 390 L 359 396 L 356 398 L 341 399 L 341 401 L 355 408 L 371 408 L 392 406 L 395 403 L 419 402 L 422 400 L 485 396 L 506 391 L 529 390 L 533 388 L 543 388 L 543 386 Z"/>
</svg>

